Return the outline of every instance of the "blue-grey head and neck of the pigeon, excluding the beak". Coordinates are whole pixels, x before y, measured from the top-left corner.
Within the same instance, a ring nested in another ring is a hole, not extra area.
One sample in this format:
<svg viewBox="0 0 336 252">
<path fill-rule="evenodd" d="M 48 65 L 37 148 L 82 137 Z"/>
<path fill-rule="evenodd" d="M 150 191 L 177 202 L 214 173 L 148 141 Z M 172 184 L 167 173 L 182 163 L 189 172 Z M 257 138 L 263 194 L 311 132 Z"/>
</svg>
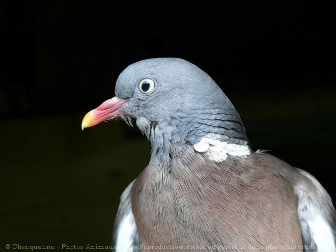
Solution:
<svg viewBox="0 0 336 252">
<path fill-rule="evenodd" d="M 134 63 L 119 75 L 115 94 L 129 101 L 120 108 L 121 117 L 136 119 L 150 139 L 152 151 L 163 147 L 159 153 L 167 154 L 169 148 L 196 144 L 203 136 L 248 144 L 230 100 L 208 74 L 185 60 L 158 58 Z"/>
</svg>

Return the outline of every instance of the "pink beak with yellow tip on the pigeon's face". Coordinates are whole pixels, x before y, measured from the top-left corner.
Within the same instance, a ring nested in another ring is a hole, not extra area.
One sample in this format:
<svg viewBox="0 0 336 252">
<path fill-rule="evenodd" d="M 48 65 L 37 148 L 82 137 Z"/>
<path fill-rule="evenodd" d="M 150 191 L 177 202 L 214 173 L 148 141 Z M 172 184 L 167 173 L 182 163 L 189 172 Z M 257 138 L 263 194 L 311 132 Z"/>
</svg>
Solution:
<svg viewBox="0 0 336 252">
<path fill-rule="evenodd" d="M 102 121 L 105 121 L 111 117 L 121 115 L 118 109 L 121 108 L 128 100 L 121 99 L 119 97 L 113 97 L 107 101 L 104 101 L 99 107 L 91 110 L 85 115 L 81 122 L 81 129 L 88 128 Z"/>
</svg>

